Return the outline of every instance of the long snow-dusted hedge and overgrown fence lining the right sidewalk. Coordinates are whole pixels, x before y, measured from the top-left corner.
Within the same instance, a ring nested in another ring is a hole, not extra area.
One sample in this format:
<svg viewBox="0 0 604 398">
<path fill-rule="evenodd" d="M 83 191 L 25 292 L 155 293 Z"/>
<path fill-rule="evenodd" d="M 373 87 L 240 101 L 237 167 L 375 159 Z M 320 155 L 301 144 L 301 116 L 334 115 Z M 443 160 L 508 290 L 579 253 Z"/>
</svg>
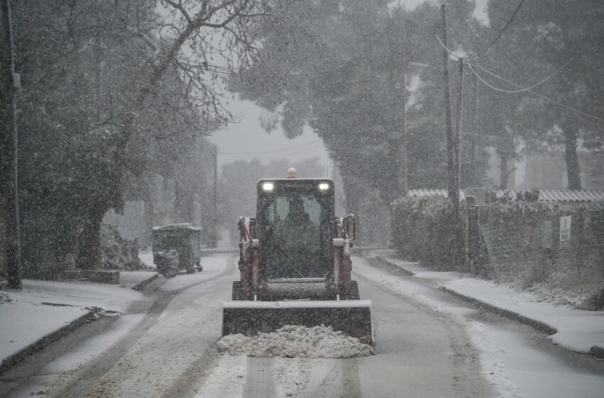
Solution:
<svg viewBox="0 0 604 398">
<path fill-rule="evenodd" d="M 462 203 L 454 215 L 446 198 L 403 198 L 392 203 L 392 242 L 399 257 L 424 267 L 522 289 L 568 289 L 585 298 L 583 308 L 604 306 L 602 202 L 538 202 L 533 195 Z"/>
</svg>

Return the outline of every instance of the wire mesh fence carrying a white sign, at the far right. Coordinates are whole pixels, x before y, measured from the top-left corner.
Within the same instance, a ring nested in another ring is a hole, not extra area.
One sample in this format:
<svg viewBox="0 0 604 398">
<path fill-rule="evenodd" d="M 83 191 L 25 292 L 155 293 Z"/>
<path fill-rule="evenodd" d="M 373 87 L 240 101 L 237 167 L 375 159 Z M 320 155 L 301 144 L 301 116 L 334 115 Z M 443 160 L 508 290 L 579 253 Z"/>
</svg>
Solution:
<svg viewBox="0 0 604 398">
<path fill-rule="evenodd" d="M 527 222 L 492 222 L 468 209 L 466 267 L 500 282 L 538 282 L 554 271 L 604 276 L 604 205 Z"/>
</svg>

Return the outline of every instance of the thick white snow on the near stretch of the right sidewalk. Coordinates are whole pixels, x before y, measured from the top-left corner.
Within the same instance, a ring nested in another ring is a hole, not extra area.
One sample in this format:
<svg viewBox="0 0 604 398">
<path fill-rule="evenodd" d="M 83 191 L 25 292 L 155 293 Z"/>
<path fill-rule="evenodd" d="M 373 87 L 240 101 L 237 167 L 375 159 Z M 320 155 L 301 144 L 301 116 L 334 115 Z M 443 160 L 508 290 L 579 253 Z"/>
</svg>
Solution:
<svg viewBox="0 0 604 398">
<path fill-rule="evenodd" d="M 531 292 L 480 279 L 453 279 L 444 282 L 443 286 L 546 323 L 558 330 L 558 333 L 550 336 L 551 340 L 568 350 L 589 353 L 593 345 L 604 347 L 604 311 L 583 311 L 539 302 L 539 296 Z"/>
</svg>

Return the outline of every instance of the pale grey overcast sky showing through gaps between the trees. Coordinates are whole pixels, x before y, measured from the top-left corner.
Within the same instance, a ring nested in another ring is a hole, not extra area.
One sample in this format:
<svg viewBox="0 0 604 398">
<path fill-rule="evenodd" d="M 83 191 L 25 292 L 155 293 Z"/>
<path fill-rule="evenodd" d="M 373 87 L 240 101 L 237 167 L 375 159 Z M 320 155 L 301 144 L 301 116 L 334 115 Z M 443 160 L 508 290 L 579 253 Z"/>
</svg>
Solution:
<svg viewBox="0 0 604 398">
<path fill-rule="evenodd" d="M 431 0 L 400 0 L 406 9 L 414 9 L 418 4 Z M 488 23 L 485 6 L 487 0 L 476 0 L 475 17 L 483 23 Z M 398 0 L 394 0 L 398 4 Z M 260 117 L 266 114 L 264 109 L 253 102 L 240 101 L 237 97 L 230 101 L 227 109 L 240 119 L 239 123 L 229 124 L 224 129 L 210 136 L 210 141 L 218 146 L 218 164 L 230 163 L 235 160 L 251 160 L 258 158 L 262 163 L 271 160 L 290 159 L 293 162 L 318 156 L 325 167 L 330 165 L 330 159 L 319 137 L 312 129 L 306 127 L 304 133 L 295 139 L 287 139 L 280 125 L 274 131 L 267 133 L 260 124 Z M 281 151 L 283 149 L 283 151 Z"/>
</svg>

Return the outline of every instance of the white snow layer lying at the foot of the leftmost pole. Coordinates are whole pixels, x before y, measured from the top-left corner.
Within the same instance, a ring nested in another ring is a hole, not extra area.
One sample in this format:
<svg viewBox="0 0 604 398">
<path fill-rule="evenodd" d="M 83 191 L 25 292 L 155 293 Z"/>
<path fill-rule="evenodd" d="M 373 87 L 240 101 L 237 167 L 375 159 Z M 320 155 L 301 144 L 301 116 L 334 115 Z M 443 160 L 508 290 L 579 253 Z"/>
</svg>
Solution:
<svg viewBox="0 0 604 398">
<path fill-rule="evenodd" d="M 85 316 L 92 307 L 124 312 L 144 298 L 137 291 L 106 284 L 28 279 L 22 284 L 21 291 L 3 294 L 10 301 L 0 303 L 2 360 Z"/>
</svg>

